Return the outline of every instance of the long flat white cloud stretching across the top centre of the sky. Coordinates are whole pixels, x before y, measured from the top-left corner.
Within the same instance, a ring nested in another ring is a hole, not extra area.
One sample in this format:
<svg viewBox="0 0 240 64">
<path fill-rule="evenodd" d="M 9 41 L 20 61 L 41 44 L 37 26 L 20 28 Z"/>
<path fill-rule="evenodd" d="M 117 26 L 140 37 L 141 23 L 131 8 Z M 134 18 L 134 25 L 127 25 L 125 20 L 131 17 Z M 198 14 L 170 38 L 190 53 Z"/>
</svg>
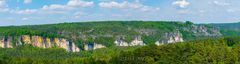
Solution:
<svg viewBox="0 0 240 64">
<path fill-rule="evenodd" d="M 137 9 L 141 11 L 159 10 L 159 8 L 143 5 L 139 3 L 139 1 L 134 3 L 131 3 L 128 1 L 123 1 L 120 3 L 115 1 L 110 1 L 110 2 L 100 2 L 98 5 L 102 8 Z"/>
</svg>

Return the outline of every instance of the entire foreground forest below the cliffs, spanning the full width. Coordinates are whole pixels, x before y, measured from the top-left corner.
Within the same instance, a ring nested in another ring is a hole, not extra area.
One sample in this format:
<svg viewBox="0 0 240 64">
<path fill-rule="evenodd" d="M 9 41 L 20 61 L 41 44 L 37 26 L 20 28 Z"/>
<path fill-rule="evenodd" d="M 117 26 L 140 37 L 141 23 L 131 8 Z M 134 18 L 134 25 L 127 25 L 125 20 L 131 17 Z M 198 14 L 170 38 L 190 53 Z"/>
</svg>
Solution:
<svg viewBox="0 0 240 64">
<path fill-rule="evenodd" d="M 238 64 L 240 37 L 207 38 L 161 46 L 66 52 L 29 45 L 0 49 L 1 64 Z"/>
</svg>

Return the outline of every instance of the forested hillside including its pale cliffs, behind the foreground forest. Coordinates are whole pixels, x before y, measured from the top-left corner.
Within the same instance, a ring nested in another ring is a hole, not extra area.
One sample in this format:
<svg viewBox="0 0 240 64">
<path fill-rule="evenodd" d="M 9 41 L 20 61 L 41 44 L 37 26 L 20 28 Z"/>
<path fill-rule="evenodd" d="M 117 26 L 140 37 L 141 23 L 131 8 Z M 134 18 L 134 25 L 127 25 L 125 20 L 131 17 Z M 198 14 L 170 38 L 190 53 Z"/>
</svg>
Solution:
<svg viewBox="0 0 240 64">
<path fill-rule="evenodd" d="M 161 45 L 195 38 L 222 36 L 215 27 L 191 22 L 164 21 L 106 21 L 8 26 L 0 27 L 0 35 L 12 37 L 12 39 L 3 38 L 4 46 L 2 47 L 8 47 L 8 45 L 14 47 L 19 44 L 19 39 L 22 39 L 19 37 L 29 35 L 30 40 L 22 40 L 22 42 L 46 48 L 48 45 L 44 41 L 48 39 L 44 38 L 49 38 L 53 45 L 66 50 L 73 49 L 71 48 L 73 45 L 79 47 L 80 50 L 92 50 L 109 46 Z"/>
</svg>

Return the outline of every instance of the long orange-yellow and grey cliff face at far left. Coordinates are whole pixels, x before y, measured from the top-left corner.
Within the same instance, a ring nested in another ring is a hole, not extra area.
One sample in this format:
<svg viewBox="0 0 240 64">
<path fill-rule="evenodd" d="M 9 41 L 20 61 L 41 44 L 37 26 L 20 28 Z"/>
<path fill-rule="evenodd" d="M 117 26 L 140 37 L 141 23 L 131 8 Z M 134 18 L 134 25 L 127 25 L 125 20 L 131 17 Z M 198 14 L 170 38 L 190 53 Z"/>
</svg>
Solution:
<svg viewBox="0 0 240 64">
<path fill-rule="evenodd" d="M 79 52 L 80 49 L 70 41 L 67 41 L 64 38 L 45 38 L 41 36 L 29 36 L 29 35 L 22 35 L 17 38 L 16 44 L 12 44 L 12 37 L 2 37 L 0 41 L 0 47 L 2 48 L 13 48 L 13 45 L 23 45 L 23 44 L 30 44 L 35 47 L 40 48 L 51 48 L 51 47 L 59 47 L 63 48 L 67 51 L 71 52 Z"/>
</svg>

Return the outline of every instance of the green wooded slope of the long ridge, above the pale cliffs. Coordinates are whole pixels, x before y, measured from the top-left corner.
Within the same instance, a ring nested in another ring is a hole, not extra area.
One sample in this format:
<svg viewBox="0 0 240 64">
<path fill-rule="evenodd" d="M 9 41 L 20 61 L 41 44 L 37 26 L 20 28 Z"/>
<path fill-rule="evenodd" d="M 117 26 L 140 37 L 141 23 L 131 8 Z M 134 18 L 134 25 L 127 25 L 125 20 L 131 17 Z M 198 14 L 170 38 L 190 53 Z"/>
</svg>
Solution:
<svg viewBox="0 0 240 64">
<path fill-rule="evenodd" d="M 137 36 L 141 36 L 145 43 L 154 43 L 157 40 L 164 39 L 165 37 L 163 36 L 165 33 L 177 31 L 181 32 L 185 40 L 211 36 L 211 34 L 205 35 L 205 32 L 200 30 L 211 33 L 211 30 L 215 30 L 215 28 L 193 24 L 189 21 L 102 21 L 7 26 L 0 27 L 0 35 L 61 37 L 71 40 L 81 47 L 82 43 L 93 42 L 113 46 L 113 42 L 118 38 L 124 37 L 126 42 L 131 42 Z M 196 33 L 194 33 L 194 31 Z"/>
</svg>

